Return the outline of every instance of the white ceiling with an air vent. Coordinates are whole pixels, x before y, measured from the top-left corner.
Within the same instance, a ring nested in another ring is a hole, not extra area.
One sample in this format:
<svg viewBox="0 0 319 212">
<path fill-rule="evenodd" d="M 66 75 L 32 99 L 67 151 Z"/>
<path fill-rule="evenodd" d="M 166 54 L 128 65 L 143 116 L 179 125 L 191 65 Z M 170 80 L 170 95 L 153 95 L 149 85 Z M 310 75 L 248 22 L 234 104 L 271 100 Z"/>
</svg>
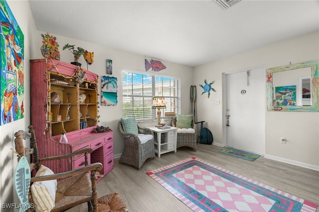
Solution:
<svg viewBox="0 0 319 212">
<path fill-rule="evenodd" d="M 319 31 L 319 0 L 241 0 L 227 10 L 213 0 L 30 0 L 30 6 L 40 31 L 192 67 Z"/>
</svg>

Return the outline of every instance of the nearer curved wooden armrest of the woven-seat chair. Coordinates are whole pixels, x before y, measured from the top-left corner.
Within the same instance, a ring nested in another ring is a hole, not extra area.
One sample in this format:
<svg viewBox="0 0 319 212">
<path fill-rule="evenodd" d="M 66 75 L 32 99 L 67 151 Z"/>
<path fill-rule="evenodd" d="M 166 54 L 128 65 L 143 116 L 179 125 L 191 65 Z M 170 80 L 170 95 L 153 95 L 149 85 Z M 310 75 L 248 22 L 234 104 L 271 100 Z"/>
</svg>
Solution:
<svg viewBox="0 0 319 212">
<path fill-rule="evenodd" d="M 37 182 L 37 181 L 45 181 L 45 180 L 57 180 L 61 178 L 66 178 L 66 177 L 72 177 L 77 174 L 89 172 L 89 171 L 100 171 L 102 170 L 103 165 L 102 163 L 92 163 L 87 166 L 78 168 L 76 170 L 71 170 L 63 173 L 57 173 L 53 175 L 44 175 L 44 176 L 39 176 L 39 177 L 32 177 L 31 182 Z"/>
</svg>

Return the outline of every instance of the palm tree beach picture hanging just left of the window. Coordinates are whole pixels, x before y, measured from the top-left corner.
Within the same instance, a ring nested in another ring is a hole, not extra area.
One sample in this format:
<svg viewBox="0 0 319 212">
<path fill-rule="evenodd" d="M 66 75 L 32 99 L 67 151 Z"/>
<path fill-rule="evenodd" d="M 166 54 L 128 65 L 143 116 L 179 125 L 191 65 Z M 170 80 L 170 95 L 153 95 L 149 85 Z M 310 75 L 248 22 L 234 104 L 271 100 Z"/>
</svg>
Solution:
<svg viewBox="0 0 319 212">
<path fill-rule="evenodd" d="M 102 76 L 102 106 L 118 104 L 118 80 L 116 77 Z"/>
</svg>

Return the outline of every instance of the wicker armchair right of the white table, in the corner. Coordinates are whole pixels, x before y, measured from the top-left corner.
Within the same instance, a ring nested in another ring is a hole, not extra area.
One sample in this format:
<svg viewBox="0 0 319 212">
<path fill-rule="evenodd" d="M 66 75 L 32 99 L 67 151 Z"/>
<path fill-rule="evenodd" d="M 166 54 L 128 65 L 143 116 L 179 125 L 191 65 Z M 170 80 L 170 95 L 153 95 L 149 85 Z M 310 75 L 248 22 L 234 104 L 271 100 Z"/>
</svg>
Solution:
<svg viewBox="0 0 319 212">
<path fill-rule="evenodd" d="M 171 124 L 172 126 L 176 126 L 176 117 L 173 118 Z M 194 121 L 192 121 L 191 126 L 195 129 Z M 194 151 L 197 151 L 196 131 L 194 133 L 181 133 L 180 130 L 177 130 L 176 148 L 181 146 L 188 146 L 193 148 Z"/>
</svg>

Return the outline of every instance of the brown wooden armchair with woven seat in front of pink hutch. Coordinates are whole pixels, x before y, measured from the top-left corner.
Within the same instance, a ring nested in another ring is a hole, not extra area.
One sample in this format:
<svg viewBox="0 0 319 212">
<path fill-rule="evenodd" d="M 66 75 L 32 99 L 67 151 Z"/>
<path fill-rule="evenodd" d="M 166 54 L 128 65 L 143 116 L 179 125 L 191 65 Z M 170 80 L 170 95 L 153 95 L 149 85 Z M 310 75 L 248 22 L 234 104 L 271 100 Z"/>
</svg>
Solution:
<svg viewBox="0 0 319 212">
<path fill-rule="evenodd" d="M 59 160 L 63 158 L 73 157 L 78 154 L 85 155 L 85 166 L 76 170 L 64 172 L 64 173 L 56 173 L 45 176 L 31 177 L 31 184 L 39 181 L 48 181 L 48 180 L 57 180 L 57 189 L 55 196 L 55 206 L 51 210 L 51 212 L 60 212 L 65 211 L 70 208 L 73 208 L 82 203 L 88 203 L 88 211 L 89 212 L 98 212 L 97 204 L 97 192 L 96 192 L 96 176 L 95 173 L 97 171 L 102 170 L 103 165 L 101 163 L 93 163 L 88 164 L 88 154 L 93 151 L 92 148 L 83 148 L 73 153 L 69 153 L 66 155 L 52 156 L 47 158 L 39 158 L 38 157 L 38 149 L 36 145 L 36 140 L 34 136 L 33 127 L 29 126 L 29 133 L 31 137 L 26 136 L 27 132 L 22 130 L 16 132 L 14 134 L 15 139 L 15 150 L 18 156 L 24 155 L 24 146 L 22 139 L 30 138 L 30 146 L 33 148 L 33 156 L 34 156 L 34 164 L 35 170 L 37 171 L 40 168 L 41 161 L 48 160 Z M 19 160 L 19 158 L 18 158 Z M 91 172 L 91 175 L 89 174 Z M 29 192 L 29 202 L 32 203 L 32 192 Z"/>
</svg>

